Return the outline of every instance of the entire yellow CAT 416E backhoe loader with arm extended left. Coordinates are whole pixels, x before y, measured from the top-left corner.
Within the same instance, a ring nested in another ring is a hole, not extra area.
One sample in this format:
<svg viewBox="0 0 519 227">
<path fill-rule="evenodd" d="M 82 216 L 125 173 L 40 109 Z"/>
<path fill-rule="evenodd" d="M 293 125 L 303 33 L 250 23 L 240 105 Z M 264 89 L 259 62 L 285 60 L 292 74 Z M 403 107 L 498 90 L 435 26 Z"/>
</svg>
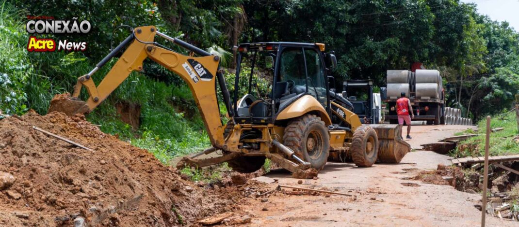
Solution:
<svg viewBox="0 0 519 227">
<path fill-rule="evenodd" d="M 168 49 L 154 41 L 156 36 L 198 56 Z M 92 75 L 125 48 L 96 86 Z M 132 71 L 142 70 L 143 60 L 150 58 L 188 84 L 211 140 L 211 148 L 185 157 L 183 165 L 204 167 L 227 162 L 236 171 L 253 172 L 268 158 L 295 173 L 309 168 L 321 170 L 330 153 L 331 159 L 350 158 L 359 167 L 370 167 L 377 159 L 400 162 L 409 152 L 409 145 L 398 138 L 396 125 L 362 125 L 352 112 L 351 103 L 330 90 L 333 77 L 327 73 L 337 61 L 333 52 L 324 52 L 324 44 L 263 42 L 243 43 L 234 48 L 238 55 L 231 95 L 218 68 L 218 56 L 160 33 L 155 26 L 134 28 L 94 69 L 78 78 L 71 99 L 53 100 L 49 112 L 91 112 Z M 245 66 L 251 68 L 248 74 L 241 70 Z M 270 92 L 261 90 L 253 81 L 254 70 L 264 74 Z M 248 77 L 245 89 L 240 87 L 240 77 Z M 230 119 L 226 124 L 220 116 L 217 86 Z M 79 100 L 82 87 L 90 95 L 86 102 Z M 222 155 L 197 159 L 216 150 L 221 150 Z"/>
</svg>

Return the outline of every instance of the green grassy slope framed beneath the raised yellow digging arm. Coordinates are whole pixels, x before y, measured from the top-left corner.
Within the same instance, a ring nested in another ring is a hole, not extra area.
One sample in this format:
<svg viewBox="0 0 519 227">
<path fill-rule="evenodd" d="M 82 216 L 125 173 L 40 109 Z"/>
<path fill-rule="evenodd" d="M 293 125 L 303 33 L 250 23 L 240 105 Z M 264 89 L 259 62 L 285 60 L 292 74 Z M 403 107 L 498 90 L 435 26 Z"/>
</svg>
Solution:
<svg viewBox="0 0 519 227">
<path fill-rule="evenodd" d="M 119 119 L 115 109 L 115 103 L 119 100 L 141 105 L 138 130 Z M 162 163 L 210 146 L 189 89 L 137 73 L 130 75 L 87 119 L 101 125 L 103 132 L 118 134 L 119 139 L 147 149 Z"/>
</svg>

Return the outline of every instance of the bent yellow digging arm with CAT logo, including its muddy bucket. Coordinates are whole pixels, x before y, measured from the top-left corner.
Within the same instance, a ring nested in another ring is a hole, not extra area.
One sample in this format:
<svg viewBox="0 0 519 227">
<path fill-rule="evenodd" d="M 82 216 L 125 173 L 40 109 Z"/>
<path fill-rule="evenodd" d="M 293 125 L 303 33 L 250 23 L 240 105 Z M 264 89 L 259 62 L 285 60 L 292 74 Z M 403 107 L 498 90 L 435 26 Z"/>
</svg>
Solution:
<svg viewBox="0 0 519 227">
<path fill-rule="evenodd" d="M 186 56 L 154 42 L 156 35 L 164 37 L 200 57 Z M 120 50 L 127 47 L 112 69 L 103 80 L 95 86 L 92 74 L 103 67 Z M 79 77 L 71 99 L 55 99 L 51 102 L 51 111 L 64 112 L 67 115 L 89 113 L 110 95 L 133 71 L 141 71 L 144 59 L 150 58 L 158 64 L 180 75 L 193 93 L 195 102 L 206 125 L 209 138 L 214 147 L 222 148 L 224 144 L 224 126 L 220 119 L 216 96 L 216 79 L 220 84 L 224 102 L 229 116 L 234 116 L 230 107 L 229 92 L 225 79 L 218 71 L 220 59 L 182 40 L 169 37 L 157 31 L 155 26 L 137 27 L 133 33 L 119 44 L 110 54 L 104 57 L 95 68 Z M 79 100 L 81 88 L 85 87 L 90 97 L 86 102 Z"/>
</svg>

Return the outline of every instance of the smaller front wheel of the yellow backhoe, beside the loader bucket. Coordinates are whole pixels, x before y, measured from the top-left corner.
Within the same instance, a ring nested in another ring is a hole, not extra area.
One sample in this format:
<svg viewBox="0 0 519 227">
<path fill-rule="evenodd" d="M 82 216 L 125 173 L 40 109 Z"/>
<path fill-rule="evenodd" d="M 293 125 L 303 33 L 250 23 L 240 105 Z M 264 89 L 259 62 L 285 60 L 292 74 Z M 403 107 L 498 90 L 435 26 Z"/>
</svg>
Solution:
<svg viewBox="0 0 519 227">
<path fill-rule="evenodd" d="M 378 156 L 377 133 L 370 126 L 363 125 L 353 132 L 351 158 L 358 167 L 371 167 Z"/>
</svg>

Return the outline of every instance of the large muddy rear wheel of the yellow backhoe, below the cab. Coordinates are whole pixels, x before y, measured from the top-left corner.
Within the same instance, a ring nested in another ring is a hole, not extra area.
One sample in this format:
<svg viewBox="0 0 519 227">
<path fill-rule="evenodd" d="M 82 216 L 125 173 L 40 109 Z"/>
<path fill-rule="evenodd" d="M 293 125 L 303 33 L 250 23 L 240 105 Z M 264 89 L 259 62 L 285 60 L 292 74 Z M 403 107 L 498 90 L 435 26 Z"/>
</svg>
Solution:
<svg viewBox="0 0 519 227">
<path fill-rule="evenodd" d="M 285 128 L 283 145 L 297 157 L 310 162 L 313 169 L 321 170 L 330 155 L 330 135 L 320 117 L 306 114 L 292 120 Z"/>
</svg>

